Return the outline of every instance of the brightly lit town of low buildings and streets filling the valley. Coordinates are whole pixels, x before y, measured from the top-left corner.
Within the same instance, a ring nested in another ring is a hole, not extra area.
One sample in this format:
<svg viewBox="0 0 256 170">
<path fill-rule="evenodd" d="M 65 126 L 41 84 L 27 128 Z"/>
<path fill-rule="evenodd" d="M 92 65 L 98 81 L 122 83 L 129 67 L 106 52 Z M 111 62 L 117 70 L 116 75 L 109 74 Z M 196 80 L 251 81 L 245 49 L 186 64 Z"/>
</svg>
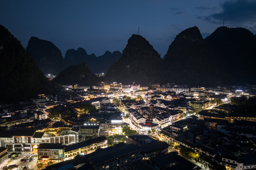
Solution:
<svg viewBox="0 0 256 170">
<path fill-rule="evenodd" d="M 1 107 L 0 168 L 253 170 L 255 103 L 255 86 L 62 85 Z"/>
</svg>

